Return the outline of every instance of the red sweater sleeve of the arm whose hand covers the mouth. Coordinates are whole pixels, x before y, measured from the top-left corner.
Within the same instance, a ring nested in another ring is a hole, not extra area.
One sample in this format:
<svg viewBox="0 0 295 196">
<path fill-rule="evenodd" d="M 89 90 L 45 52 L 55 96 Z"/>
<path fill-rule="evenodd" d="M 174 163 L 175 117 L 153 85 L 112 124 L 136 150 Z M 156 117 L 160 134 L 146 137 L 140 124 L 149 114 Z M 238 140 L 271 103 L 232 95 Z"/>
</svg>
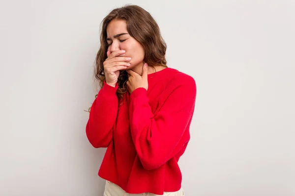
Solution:
<svg viewBox="0 0 295 196">
<path fill-rule="evenodd" d="M 115 87 L 104 82 L 90 108 L 86 135 L 93 147 L 108 147 L 113 139 L 113 126 L 118 113 L 118 98 Z"/>
</svg>

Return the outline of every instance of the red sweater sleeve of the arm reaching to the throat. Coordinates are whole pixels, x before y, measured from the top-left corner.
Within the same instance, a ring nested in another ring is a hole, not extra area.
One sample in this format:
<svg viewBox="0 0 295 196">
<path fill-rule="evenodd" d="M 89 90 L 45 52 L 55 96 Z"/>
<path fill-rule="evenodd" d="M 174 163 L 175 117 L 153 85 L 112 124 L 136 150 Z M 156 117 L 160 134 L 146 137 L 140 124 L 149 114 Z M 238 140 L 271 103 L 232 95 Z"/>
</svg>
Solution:
<svg viewBox="0 0 295 196">
<path fill-rule="evenodd" d="M 193 116 L 196 83 L 189 76 L 174 82 L 173 86 L 155 115 L 148 103 L 146 89 L 138 88 L 130 95 L 131 135 L 146 170 L 162 166 L 189 140 L 183 139 L 182 135 L 189 128 Z"/>
</svg>

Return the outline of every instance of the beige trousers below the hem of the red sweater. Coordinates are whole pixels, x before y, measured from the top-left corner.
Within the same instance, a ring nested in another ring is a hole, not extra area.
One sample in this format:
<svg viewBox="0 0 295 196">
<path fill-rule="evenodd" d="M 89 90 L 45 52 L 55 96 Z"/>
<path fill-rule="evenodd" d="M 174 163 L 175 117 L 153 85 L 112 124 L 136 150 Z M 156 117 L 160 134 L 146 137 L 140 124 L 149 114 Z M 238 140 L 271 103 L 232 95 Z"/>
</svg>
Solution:
<svg viewBox="0 0 295 196">
<path fill-rule="evenodd" d="M 106 181 L 105 191 L 103 196 L 160 196 L 151 193 L 142 193 L 142 194 L 129 194 L 126 193 L 123 189 L 121 189 L 118 185 Z M 161 196 L 184 196 L 184 191 L 182 187 L 177 192 L 164 192 L 164 195 Z"/>
</svg>

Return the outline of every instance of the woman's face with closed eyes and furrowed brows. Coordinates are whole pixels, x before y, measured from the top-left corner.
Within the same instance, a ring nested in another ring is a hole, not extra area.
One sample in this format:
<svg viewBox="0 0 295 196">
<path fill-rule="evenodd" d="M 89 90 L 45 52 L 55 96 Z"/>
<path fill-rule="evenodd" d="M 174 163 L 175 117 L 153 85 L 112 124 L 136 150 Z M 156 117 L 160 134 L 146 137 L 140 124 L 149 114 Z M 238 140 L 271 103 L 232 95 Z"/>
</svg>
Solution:
<svg viewBox="0 0 295 196">
<path fill-rule="evenodd" d="M 127 69 L 143 65 L 145 51 L 143 46 L 128 34 L 127 24 L 124 20 L 113 20 L 107 26 L 108 51 L 125 50 L 120 56 L 131 57 L 130 66 Z"/>
</svg>

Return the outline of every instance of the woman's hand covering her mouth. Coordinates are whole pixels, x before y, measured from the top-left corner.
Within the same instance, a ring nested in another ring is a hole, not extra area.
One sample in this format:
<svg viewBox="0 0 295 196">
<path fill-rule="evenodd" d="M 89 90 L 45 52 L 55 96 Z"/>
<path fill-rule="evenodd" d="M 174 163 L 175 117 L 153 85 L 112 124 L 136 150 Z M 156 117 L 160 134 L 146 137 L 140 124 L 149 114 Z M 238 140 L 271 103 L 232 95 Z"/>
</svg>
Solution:
<svg viewBox="0 0 295 196">
<path fill-rule="evenodd" d="M 119 56 L 125 53 L 125 50 L 107 51 L 108 58 L 103 62 L 106 83 L 115 87 L 118 81 L 120 70 L 125 70 L 130 66 L 131 58 Z"/>
</svg>

